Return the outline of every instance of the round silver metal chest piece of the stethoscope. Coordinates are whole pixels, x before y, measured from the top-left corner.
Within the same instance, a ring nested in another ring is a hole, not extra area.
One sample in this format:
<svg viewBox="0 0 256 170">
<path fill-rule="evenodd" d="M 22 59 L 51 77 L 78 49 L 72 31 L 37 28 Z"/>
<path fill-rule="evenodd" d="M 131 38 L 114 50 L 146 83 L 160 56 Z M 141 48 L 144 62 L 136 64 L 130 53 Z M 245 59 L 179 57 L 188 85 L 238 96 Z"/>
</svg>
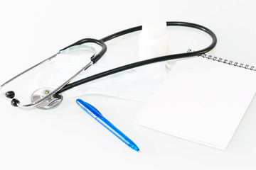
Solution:
<svg viewBox="0 0 256 170">
<path fill-rule="evenodd" d="M 38 89 L 37 91 L 33 92 L 31 95 L 31 101 L 35 102 L 39 99 L 45 97 L 46 95 L 50 94 L 54 89 L 53 88 L 42 88 Z M 36 104 L 38 108 L 48 109 L 48 108 L 55 108 L 58 106 L 61 101 L 63 100 L 63 96 L 61 94 L 53 94 L 52 96 L 49 96 L 45 100 L 43 100 L 41 103 Z"/>
</svg>

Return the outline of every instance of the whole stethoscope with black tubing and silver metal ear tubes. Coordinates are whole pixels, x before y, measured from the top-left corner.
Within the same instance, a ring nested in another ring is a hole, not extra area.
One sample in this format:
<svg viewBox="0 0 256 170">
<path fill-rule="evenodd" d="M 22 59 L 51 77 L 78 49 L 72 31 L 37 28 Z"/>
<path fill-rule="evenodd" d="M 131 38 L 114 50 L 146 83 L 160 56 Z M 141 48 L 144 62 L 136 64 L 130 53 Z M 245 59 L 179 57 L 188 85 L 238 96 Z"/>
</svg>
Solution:
<svg viewBox="0 0 256 170">
<path fill-rule="evenodd" d="M 215 47 L 215 45 L 217 43 L 217 38 L 216 38 L 216 35 L 213 33 L 213 31 L 211 31 L 210 29 L 208 29 L 204 26 L 200 26 L 195 23 L 186 23 L 186 22 L 166 22 L 166 24 L 167 24 L 167 26 L 185 26 L 185 27 L 196 28 L 198 30 L 202 30 L 202 31 L 208 33 L 208 35 L 210 35 L 210 37 L 212 38 L 212 42 L 208 47 L 204 48 L 203 50 L 180 53 L 180 54 L 175 54 L 175 55 L 165 55 L 165 56 L 161 56 L 161 57 L 155 57 L 155 58 L 152 58 L 149 60 L 134 62 L 132 64 L 127 64 L 122 67 L 110 69 L 105 72 L 101 72 L 99 74 L 95 74 L 90 77 L 86 77 L 85 79 L 80 79 L 78 81 L 70 83 L 70 81 L 72 81 L 75 77 L 77 77 L 78 74 L 85 71 L 92 64 L 95 64 L 98 60 L 100 60 L 100 58 L 107 51 L 107 45 L 105 44 L 105 42 L 107 42 L 108 40 L 112 40 L 113 38 L 117 38 L 121 35 L 125 35 L 127 33 L 132 33 L 137 30 L 142 30 L 142 26 L 137 26 L 134 28 L 129 28 L 127 30 L 119 31 L 118 33 L 114 33 L 112 35 L 108 35 L 107 37 L 102 38 L 100 40 L 96 40 L 96 39 L 92 39 L 92 38 L 85 38 L 85 39 L 79 40 L 78 42 L 75 42 L 72 45 L 69 45 L 68 47 L 65 47 L 65 48 L 59 50 L 58 53 L 49 57 L 48 59 L 43 60 L 42 62 L 39 62 L 38 64 L 34 65 L 33 67 L 30 67 L 30 68 L 26 69 L 25 71 L 21 72 L 20 74 L 16 75 L 12 79 L 9 79 L 9 81 L 6 81 L 4 84 L 1 85 L 0 89 L 2 89 L 4 86 L 6 86 L 6 84 L 9 84 L 11 81 L 16 79 L 17 77 L 20 77 L 22 74 L 30 71 L 31 69 L 38 67 L 39 65 L 41 65 L 45 62 L 52 60 L 58 54 L 65 53 L 65 52 L 67 52 L 67 50 L 73 50 L 73 49 L 75 49 L 75 47 L 78 47 L 78 45 L 83 45 L 85 47 L 85 50 L 90 50 L 93 53 L 92 57 L 90 58 L 90 62 L 87 63 L 85 65 L 85 67 L 82 67 L 82 69 L 80 69 L 75 75 L 73 75 L 73 77 L 70 77 L 70 79 L 65 81 L 63 84 L 58 86 L 56 89 L 50 89 L 50 88 L 38 89 L 37 91 L 33 92 L 33 94 L 31 95 L 31 103 L 28 103 L 28 104 L 22 104 L 20 101 L 18 101 L 18 99 L 14 98 L 14 96 L 15 96 L 14 91 L 7 91 L 6 93 L 4 93 L 7 98 L 12 98 L 12 100 L 11 100 L 12 106 L 19 106 L 19 107 L 37 106 L 38 108 L 45 108 L 45 109 L 53 108 L 55 106 L 58 106 L 58 104 L 60 104 L 61 101 L 63 100 L 63 96 L 61 93 L 63 91 L 67 91 L 68 89 L 72 89 L 75 86 L 85 84 L 85 83 L 95 80 L 95 79 L 100 79 L 102 77 L 106 77 L 110 74 L 122 72 L 127 69 L 132 69 L 134 67 L 140 67 L 140 66 L 143 66 L 146 64 L 152 64 L 154 62 L 162 62 L 162 61 L 166 61 L 166 60 L 174 60 L 174 59 L 180 59 L 180 58 L 184 58 L 184 57 L 192 57 L 192 56 L 202 55 L 202 54 L 212 50 L 213 47 Z M 84 45 L 85 43 L 89 43 L 89 42 L 100 45 L 100 47 L 101 47 L 100 52 L 98 52 L 96 54 L 96 51 L 93 47 Z"/>
</svg>

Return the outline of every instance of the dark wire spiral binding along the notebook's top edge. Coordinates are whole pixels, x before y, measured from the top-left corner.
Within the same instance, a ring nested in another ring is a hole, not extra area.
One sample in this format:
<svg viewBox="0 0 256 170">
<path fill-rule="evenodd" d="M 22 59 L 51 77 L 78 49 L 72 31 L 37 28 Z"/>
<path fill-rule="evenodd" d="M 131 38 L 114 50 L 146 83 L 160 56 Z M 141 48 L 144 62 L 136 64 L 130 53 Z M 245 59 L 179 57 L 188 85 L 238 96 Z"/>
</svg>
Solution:
<svg viewBox="0 0 256 170">
<path fill-rule="evenodd" d="M 193 52 L 193 50 L 188 49 L 187 52 Z M 254 66 L 249 66 L 248 64 L 242 64 L 242 63 L 239 63 L 239 62 L 233 62 L 232 60 L 226 60 L 226 59 L 223 59 L 223 58 L 220 58 L 220 57 L 215 57 L 215 56 L 213 57 L 212 55 L 207 55 L 206 53 L 203 54 L 203 55 L 198 55 L 198 56 L 203 57 L 203 58 L 207 58 L 208 60 L 213 60 L 213 61 L 216 61 L 216 62 L 222 62 L 224 64 L 233 65 L 235 67 L 241 67 L 241 68 L 244 68 L 244 69 L 250 69 L 252 71 L 256 71 Z"/>
</svg>

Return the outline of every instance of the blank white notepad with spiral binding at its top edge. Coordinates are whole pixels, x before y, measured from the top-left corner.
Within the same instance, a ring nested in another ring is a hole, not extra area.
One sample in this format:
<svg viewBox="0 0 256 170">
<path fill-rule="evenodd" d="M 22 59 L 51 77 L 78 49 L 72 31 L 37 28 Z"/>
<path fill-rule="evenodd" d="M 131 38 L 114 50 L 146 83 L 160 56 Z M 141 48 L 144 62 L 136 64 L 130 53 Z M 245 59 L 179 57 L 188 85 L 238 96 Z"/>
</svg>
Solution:
<svg viewBox="0 0 256 170">
<path fill-rule="evenodd" d="M 255 91 L 254 67 L 207 55 L 181 60 L 136 122 L 225 150 Z"/>
</svg>

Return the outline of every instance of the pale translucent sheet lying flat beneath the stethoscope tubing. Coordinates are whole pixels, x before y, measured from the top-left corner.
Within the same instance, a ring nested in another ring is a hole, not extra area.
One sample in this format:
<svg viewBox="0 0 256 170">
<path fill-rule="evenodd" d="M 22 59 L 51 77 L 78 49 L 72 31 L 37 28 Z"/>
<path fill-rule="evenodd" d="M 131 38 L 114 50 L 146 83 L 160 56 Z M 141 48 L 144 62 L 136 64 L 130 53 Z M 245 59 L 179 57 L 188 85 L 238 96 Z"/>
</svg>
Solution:
<svg viewBox="0 0 256 170">
<path fill-rule="evenodd" d="M 42 85 L 56 88 L 72 77 L 75 72 L 78 72 L 88 62 L 90 62 L 89 55 L 60 54 L 54 62 L 47 64 L 42 70 L 38 70 L 36 86 L 38 88 L 42 87 Z M 96 64 L 92 64 L 85 72 L 79 74 L 71 83 L 119 66 L 119 64 L 102 59 Z M 129 69 L 76 86 L 62 94 L 64 98 L 77 98 L 87 94 L 97 94 L 146 102 L 166 78 L 169 72 L 169 67 L 166 66 L 169 66 L 166 62 L 159 62 Z M 48 70 L 47 74 L 44 70 Z M 50 81 L 46 82 L 46 79 L 49 79 L 49 77 Z"/>
</svg>

